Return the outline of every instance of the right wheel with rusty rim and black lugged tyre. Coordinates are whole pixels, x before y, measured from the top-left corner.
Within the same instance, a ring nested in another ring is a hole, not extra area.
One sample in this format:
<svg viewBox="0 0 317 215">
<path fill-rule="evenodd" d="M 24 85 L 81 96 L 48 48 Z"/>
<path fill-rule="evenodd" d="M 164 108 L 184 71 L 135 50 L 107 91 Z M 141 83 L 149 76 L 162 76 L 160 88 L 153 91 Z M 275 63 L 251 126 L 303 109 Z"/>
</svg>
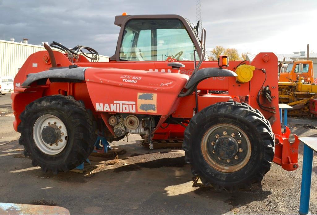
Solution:
<svg viewBox="0 0 317 215">
<path fill-rule="evenodd" d="M 260 111 L 246 103 L 204 108 L 184 132 L 185 161 L 193 175 L 216 190 L 249 189 L 262 181 L 274 157 L 274 134 Z"/>
</svg>

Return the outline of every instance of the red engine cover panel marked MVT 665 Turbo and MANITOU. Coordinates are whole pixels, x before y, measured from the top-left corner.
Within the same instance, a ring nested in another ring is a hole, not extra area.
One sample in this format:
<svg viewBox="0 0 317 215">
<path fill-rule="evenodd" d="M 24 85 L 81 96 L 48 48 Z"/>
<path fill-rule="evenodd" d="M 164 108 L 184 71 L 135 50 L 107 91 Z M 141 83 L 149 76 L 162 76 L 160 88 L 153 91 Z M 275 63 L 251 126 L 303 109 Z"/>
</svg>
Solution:
<svg viewBox="0 0 317 215">
<path fill-rule="evenodd" d="M 177 73 L 88 68 L 85 79 L 97 111 L 169 115 L 188 76 Z"/>
</svg>

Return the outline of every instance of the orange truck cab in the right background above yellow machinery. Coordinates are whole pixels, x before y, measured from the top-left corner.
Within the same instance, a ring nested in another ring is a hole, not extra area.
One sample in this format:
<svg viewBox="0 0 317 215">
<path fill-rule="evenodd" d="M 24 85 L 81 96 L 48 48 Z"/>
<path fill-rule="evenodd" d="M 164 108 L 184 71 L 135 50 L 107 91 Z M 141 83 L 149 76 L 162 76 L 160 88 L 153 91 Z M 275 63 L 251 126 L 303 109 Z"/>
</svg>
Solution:
<svg viewBox="0 0 317 215">
<path fill-rule="evenodd" d="M 304 83 L 314 82 L 313 61 L 298 60 L 288 64 L 285 71 L 281 71 L 279 82 L 295 82 L 298 77 L 304 78 Z"/>
</svg>

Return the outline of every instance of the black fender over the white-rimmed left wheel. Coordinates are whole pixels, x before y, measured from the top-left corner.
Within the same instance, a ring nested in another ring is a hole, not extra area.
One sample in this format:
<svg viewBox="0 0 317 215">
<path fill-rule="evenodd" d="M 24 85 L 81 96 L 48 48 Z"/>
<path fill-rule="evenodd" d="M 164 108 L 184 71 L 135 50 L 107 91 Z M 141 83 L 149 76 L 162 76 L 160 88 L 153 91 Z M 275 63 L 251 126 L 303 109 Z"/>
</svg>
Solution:
<svg viewBox="0 0 317 215">
<path fill-rule="evenodd" d="M 56 67 L 58 68 L 58 67 Z M 75 67 L 75 68 L 61 68 L 53 69 L 48 71 L 42 71 L 38 73 L 30 73 L 27 79 L 22 83 L 21 86 L 27 87 L 35 81 L 43 81 L 41 83 L 45 84 L 48 78 L 52 78 L 55 81 L 52 82 L 71 82 L 71 81 L 83 81 L 85 80 L 85 70 L 88 67 Z"/>
</svg>

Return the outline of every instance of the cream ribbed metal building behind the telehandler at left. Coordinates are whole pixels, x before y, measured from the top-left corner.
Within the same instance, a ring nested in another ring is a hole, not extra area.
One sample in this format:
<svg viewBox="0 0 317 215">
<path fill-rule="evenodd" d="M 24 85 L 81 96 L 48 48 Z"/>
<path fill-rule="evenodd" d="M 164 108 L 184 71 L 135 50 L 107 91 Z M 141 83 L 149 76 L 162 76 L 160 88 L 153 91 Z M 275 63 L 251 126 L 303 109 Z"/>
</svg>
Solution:
<svg viewBox="0 0 317 215">
<path fill-rule="evenodd" d="M 14 39 L 10 40 L 0 40 L 0 77 L 15 77 L 31 54 L 45 50 L 44 46 L 28 44 L 27 39 L 23 39 L 23 42 L 14 42 Z M 59 49 L 52 49 L 60 51 Z M 100 55 L 99 57 L 100 62 L 109 61 L 107 56 Z"/>
</svg>

